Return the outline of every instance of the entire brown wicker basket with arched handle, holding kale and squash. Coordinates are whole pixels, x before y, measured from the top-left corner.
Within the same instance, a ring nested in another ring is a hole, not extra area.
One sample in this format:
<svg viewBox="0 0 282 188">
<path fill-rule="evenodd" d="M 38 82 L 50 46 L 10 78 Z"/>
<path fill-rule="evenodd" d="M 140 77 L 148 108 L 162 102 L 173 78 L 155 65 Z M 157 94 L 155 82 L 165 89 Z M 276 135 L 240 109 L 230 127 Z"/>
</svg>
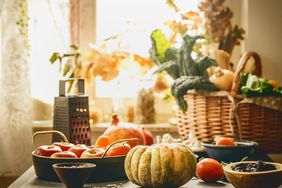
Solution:
<svg viewBox="0 0 282 188">
<path fill-rule="evenodd" d="M 216 135 L 256 141 L 267 152 L 282 152 L 282 112 L 251 102 L 237 95 L 240 73 L 250 57 L 254 57 L 253 74 L 261 76 L 260 57 L 255 52 L 243 55 L 235 71 L 232 90 L 228 92 L 189 91 L 184 96 L 188 104 L 185 114 L 178 111 L 178 132 L 183 139 L 193 130 L 201 141 Z"/>
</svg>

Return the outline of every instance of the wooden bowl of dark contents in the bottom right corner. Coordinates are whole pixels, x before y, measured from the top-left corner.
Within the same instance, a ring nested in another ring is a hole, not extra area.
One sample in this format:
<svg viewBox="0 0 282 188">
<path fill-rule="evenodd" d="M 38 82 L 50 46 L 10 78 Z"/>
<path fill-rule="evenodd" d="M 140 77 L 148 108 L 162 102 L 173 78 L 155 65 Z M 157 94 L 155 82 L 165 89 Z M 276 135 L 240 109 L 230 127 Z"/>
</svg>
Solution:
<svg viewBox="0 0 282 188">
<path fill-rule="evenodd" d="M 238 163 L 252 163 L 256 161 L 244 161 L 231 163 L 223 167 L 227 180 L 239 188 L 277 188 L 282 184 L 282 164 L 270 163 L 275 166 L 276 170 L 263 172 L 237 172 L 232 170 L 232 166 Z"/>
</svg>

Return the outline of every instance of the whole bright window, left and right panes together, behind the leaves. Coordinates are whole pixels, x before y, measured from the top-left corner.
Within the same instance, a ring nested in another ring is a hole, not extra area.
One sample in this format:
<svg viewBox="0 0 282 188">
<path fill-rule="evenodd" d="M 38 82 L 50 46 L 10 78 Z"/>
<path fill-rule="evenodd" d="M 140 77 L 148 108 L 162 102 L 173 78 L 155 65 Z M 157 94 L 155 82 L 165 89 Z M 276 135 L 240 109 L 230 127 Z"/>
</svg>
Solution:
<svg viewBox="0 0 282 188">
<path fill-rule="evenodd" d="M 151 32 L 157 28 L 169 32 L 164 22 L 177 18 L 174 10 L 166 5 L 166 0 L 96 0 L 96 7 L 92 8 L 88 5 L 93 5 L 93 1 L 78 1 L 81 21 L 79 41 L 83 43 L 79 45 L 84 47 L 85 41 L 93 42 L 93 38 L 88 37 L 94 30 L 96 44 L 112 37 L 113 40 L 107 42 L 108 50 L 118 49 L 148 57 Z M 185 10 L 196 10 L 198 0 L 177 3 L 187 7 L 183 8 Z M 30 0 L 29 11 L 32 96 L 53 103 L 54 96 L 58 96 L 60 76 L 59 65 L 51 65 L 49 58 L 53 52 L 67 52 L 69 48 L 69 0 Z M 92 18 L 95 11 L 96 17 Z M 96 19 L 96 26 L 93 19 Z M 87 22 L 91 23 L 87 25 Z M 141 86 L 140 80 L 151 79 L 153 70 L 143 77 L 137 76 L 134 71 L 138 70 L 134 67 L 122 69 L 117 79 L 107 82 L 97 78 L 96 88 L 91 90 L 96 91 L 98 97 L 93 106 L 99 106 L 103 112 L 110 113 L 112 100 L 109 99 L 127 97 L 132 101 Z M 168 113 L 171 109 L 162 106 L 161 111 Z"/>
</svg>

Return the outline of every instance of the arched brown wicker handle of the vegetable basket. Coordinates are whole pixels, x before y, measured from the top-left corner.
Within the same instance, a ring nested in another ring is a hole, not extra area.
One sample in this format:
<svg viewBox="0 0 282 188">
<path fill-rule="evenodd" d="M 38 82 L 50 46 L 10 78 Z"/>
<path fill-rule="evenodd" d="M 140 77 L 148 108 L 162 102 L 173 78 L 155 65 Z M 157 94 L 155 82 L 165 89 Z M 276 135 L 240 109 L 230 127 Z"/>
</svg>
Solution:
<svg viewBox="0 0 282 188">
<path fill-rule="evenodd" d="M 262 74 L 262 66 L 261 66 L 261 59 L 258 53 L 253 52 L 253 51 L 249 51 L 243 54 L 243 56 L 241 57 L 237 68 L 235 70 L 235 74 L 234 74 L 234 79 L 233 79 L 233 83 L 232 83 L 232 88 L 231 88 L 231 96 L 235 97 L 239 91 L 239 87 L 240 87 L 240 74 L 243 71 L 244 67 L 247 65 L 248 60 L 253 57 L 255 59 L 255 70 L 253 72 L 253 74 L 257 75 L 257 76 L 261 76 Z"/>
</svg>

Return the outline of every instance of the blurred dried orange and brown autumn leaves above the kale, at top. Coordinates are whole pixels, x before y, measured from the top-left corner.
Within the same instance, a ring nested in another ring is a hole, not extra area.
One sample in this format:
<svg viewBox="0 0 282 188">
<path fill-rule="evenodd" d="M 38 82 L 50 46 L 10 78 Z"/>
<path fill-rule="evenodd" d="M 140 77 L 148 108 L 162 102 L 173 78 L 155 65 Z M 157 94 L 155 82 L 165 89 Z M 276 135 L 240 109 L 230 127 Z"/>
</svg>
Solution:
<svg viewBox="0 0 282 188">
<path fill-rule="evenodd" d="M 232 55 L 234 46 L 240 45 L 245 30 L 233 25 L 233 12 L 225 0 L 202 0 L 199 11 L 182 10 L 177 0 L 167 0 L 167 5 L 178 14 L 178 20 L 168 20 L 165 24 L 172 31 L 169 41 L 175 42 L 177 36 L 185 34 L 204 35 L 208 44 L 216 43 L 217 48 Z"/>
</svg>

